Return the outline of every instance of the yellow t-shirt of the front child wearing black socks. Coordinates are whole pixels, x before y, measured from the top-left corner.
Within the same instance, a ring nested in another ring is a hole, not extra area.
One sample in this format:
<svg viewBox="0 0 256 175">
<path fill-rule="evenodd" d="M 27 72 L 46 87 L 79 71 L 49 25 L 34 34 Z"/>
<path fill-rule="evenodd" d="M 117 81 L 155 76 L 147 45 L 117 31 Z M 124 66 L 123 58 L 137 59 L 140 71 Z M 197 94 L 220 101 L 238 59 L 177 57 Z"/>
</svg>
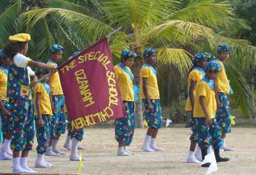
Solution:
<svg viewBox="0 0 256 175">
<path fill-rule="evenodd" d="M 213 81 L 211 82 L 213 86 Z M 213 88 L 207 82 L 201 80 L 196 84 L 195 88 L 195 104 L 193 110 L 193 117 L 194 118 L 205 118 L 204 110 L 202 109 L 199 103 L 199 97 L 205 96 L 205 105 L 207 107 L 208 113 L 210 118 L 215 117 L 215 113 L 217 110 L 216 100 L 215 100 L 215 93 Z"/>
</svg>

